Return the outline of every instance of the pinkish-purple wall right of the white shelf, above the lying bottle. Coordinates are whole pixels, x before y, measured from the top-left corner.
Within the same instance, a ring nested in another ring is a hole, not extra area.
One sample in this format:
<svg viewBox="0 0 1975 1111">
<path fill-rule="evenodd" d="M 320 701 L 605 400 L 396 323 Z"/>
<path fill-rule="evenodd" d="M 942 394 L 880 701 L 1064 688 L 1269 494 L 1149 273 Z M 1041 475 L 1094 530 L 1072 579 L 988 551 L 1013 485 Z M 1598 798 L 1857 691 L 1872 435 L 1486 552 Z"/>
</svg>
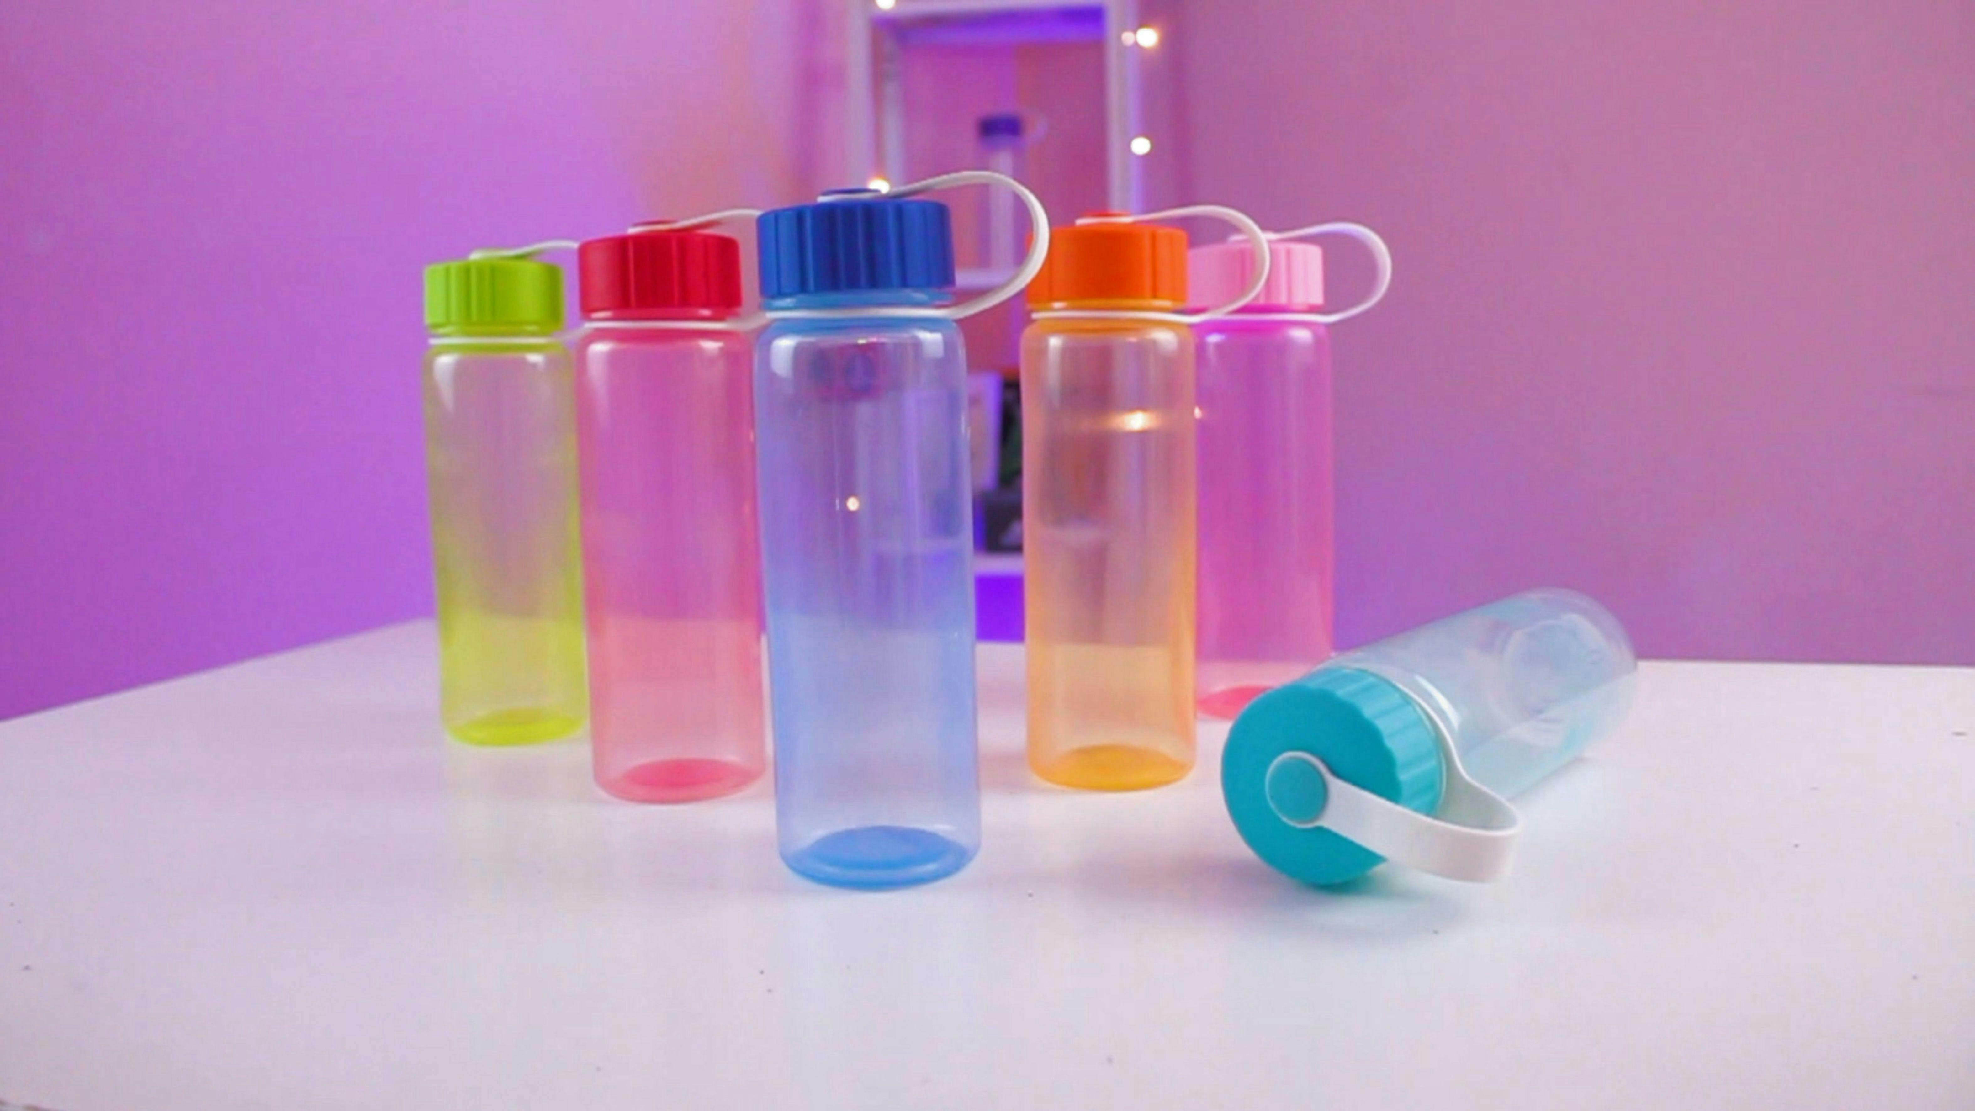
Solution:
<svg viewBox="0 0 1975 1111">
<path fill-rule="evenodd" d="M 1556 582 L 1651 655 L 1975 663 L 1967 4 L 1185 14 L 1187 191 L 1398 262 L 1337 330 L 1341 643 Z"/>
</svg>

